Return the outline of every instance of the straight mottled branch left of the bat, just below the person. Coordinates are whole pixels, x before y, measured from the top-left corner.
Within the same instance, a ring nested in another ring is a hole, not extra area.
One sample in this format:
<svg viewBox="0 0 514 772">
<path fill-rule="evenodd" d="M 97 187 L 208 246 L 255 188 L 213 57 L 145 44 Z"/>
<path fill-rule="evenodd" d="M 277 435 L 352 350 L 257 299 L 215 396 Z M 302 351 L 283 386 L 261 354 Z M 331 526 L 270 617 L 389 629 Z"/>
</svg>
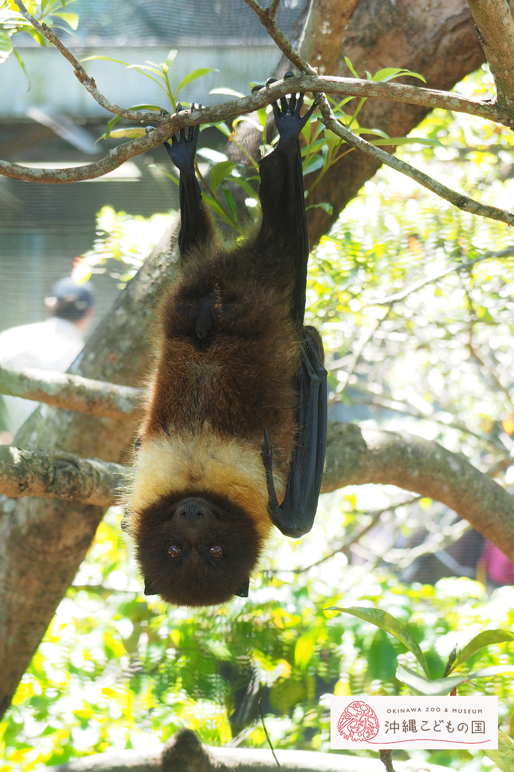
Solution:
<svg viewBox="0 0 514 772">
<path fill-rule="evenodd" d="M 33 399 L 99 418 L 126 421 L 141 400 L 143 389 L 92 381 L 79 375 L 0 367 L 0 394 Z"/>
</svg>

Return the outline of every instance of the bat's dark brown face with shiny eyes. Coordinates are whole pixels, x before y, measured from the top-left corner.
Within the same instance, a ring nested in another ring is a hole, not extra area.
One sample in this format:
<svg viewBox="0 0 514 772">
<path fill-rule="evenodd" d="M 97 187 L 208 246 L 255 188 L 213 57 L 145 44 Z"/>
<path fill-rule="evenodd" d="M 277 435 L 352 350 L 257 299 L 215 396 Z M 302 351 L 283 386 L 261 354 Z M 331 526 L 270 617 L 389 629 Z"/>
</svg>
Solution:
<svg viewBox="0 0 514 772">
<path fill-rule="evenodd" d="M 137 530 L 146 594 L 186 606 L 247 596 L 262 545 L 239 506 L 211 493 L 173 494 L 141 513 Z"/>
</svg>

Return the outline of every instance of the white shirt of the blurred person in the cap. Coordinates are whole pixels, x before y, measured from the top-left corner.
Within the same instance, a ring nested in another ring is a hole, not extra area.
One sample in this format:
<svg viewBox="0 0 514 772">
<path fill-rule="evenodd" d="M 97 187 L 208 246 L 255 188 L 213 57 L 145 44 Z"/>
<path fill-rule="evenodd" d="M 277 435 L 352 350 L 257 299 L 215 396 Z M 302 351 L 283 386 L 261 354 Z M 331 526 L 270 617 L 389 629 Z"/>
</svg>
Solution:
<svg viewBox="0 0 514 772">
<path fill-rule="evenodd" d="M 75 324 L 51 317 L 45 322 L 22 324 L 0 333 L 0 365 L 9 370 L 52 370 L 64 373 L 82 350 L 84 336 Z M 12 435 L 35 411 L 39 402 L 3 397 L 8 432 Z"/>
</svg>

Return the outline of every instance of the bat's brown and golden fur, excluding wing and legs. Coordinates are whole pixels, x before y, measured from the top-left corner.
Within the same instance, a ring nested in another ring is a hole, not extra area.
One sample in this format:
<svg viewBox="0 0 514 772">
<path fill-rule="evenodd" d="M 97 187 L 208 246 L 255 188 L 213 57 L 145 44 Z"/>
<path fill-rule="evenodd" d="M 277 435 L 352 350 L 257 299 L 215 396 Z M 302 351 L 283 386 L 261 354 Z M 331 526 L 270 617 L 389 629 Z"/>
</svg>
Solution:
<svg viewBox="0 0 514 772">
<path fill-rule="evenodd" d="M 176 583 L 173 591 L 158 586 L 156 577 L 170 566 L 162 564 L 153 544 L 170 539 L 170 531 L 164 533 L 170 506 L 185 495 L 224 499 L 222 520 L 227 527 L 232 523 L 230 538 L 221 520 L 210 538 L 224 537 L 232 560 L 243 561 L 240 574 L 254 570 L 272 528 L 260 457 L 264 424 L 274 446 L 277 495 L 284 496 L 297 429 L 293 379 L 300 355 L 291 321 L 291 284 L 284 280 L 286 255 L 281 244 L 276 251 L 268 249 L 265 258 L 255 245 L 232 252 L 198 250 L 188 256 L 161 304 L 156 369 L 126 524 L 145 577 L 153 577 L 150 584 L 170 602 L 221 602 L 236 591 L 228 581 L 223 592 L 219 574 L 209 576 L 196 559 L 186 589 L 177 589 Z M 199 340 L 198 298 L 211 293 L 213 329 L 207 340 Z M 215 588 L 212 600 L 206 591 L 210 585 Z"/>
</svg>

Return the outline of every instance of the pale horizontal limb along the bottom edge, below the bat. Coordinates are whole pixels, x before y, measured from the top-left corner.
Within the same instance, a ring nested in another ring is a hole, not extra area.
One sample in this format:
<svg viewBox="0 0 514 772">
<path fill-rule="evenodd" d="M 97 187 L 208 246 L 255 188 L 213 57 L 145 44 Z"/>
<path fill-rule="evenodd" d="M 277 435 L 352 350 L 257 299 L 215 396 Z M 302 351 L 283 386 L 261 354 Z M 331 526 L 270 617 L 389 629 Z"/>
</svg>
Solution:
<svg viewBox="0 0 514 772">
<path fill-rule="evenodd" d="M 289 772 L 383 772 L 378 759 L 336 756 L 311 750 L 277 750 L 282 769 Z M 277 772 L 270 750 L 257 748 L 210 747 L 202 745 L 196 734 L 180 730 L 166 745 L 145 750 L 95 753 L 82 759 L 48 767 L 49 772 Z M 419 764 L 413 760 L 395 761 L 396 772 L 445 772 L 448 767 Z"/>
</svg>

